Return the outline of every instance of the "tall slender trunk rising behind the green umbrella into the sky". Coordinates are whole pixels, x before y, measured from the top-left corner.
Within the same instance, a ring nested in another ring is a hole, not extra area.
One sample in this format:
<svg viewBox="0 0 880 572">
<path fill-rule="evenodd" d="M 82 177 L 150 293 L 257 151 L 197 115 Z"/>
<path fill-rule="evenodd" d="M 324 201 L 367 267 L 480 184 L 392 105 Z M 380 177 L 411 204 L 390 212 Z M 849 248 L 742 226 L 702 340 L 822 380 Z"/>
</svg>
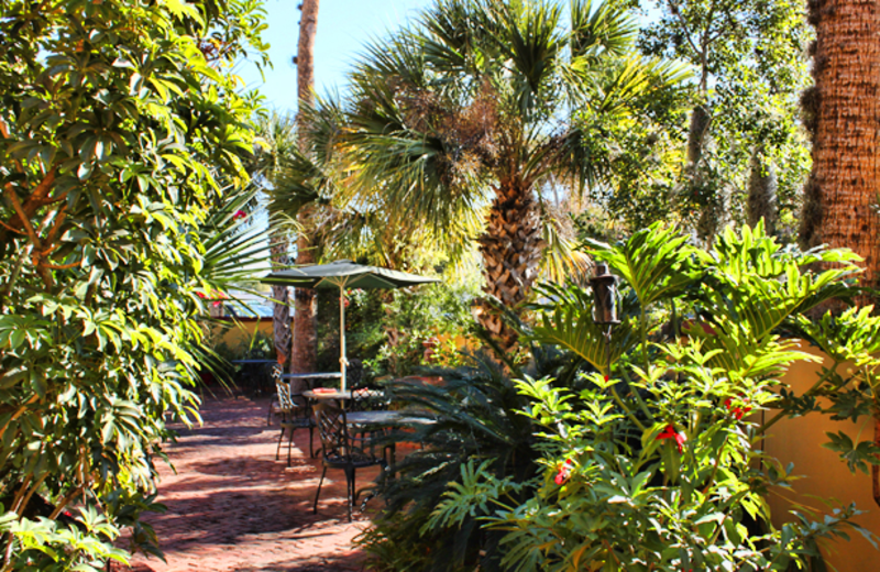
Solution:
<svg viewBox="0 0 880 572">
<path fill-rule="evenodd" d="M 302 14 L 299 20 L 299 46 L 297 48 L 297 97 L 299 107 L 297 112 L 297 131 L 299 134 L 299 150 L 307 152 L 304 106 L 315 102 L 315 34 L 318 29 L 319 0 L 302 0 Z M 300 224 L 299 237 L 296 241 L 297 264 L 315 264 L 315 249 L 309 240 L 312 230 L 312 207 L 304 207 L 297 215 Z M 294 322 L 294 363 L 292 371 L 299 373 L 315 372 L 318 355 L 318 334 L 316 324 L 315 290 L 296 289 L 296 321 Z M 295 388 L 296 389 L 296 388 Z"/>
</svg>

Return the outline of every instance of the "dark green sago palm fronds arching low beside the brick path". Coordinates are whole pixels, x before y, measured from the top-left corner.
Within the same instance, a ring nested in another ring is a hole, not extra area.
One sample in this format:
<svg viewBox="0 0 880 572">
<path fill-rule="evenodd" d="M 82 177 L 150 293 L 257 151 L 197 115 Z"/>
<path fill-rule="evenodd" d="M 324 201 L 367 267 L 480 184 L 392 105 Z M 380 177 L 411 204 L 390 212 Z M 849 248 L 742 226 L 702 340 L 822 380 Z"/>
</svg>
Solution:
<svg viewBox="0 0 880 572">
<path fill-rule="evenodd" d="M 534 350 L 539 372 L 571 375 L 570 358 Z M 520 486 L 531 483 L 539 470 L 532 426 L 520 415 L 528 399 L 517 392 L 509 371 L 488 354 L 475 354 L 464 367 L 437 373 L 443 375 L 441 386 L 411 382 L 388 386 L 395 402 L 411 411 L 407 415 L 424 416 L 430 422 L 414 426 L 415 432 L 389 437 L 389 441 L 420 442 L 424 448 L 398 460 L 393 468 L 396 479 L 378 483 L 386 507 L 375 526 L 359 538 L 373 570 L 447 572 L 473 570 L 477 563 L 483 570 L 498 570 L 503 535 L 480 526 L 491 505 L 468 505 L 454 522 L 451 517 L 436 518 L 433 510 L 450 491 L 471 490 L 486 475 L 495 475 L 505 486 Z M 526 485 L 522 491 L 530 488 Z M 491 491 L 483 494 L 492 497 Z"/>
</svg>

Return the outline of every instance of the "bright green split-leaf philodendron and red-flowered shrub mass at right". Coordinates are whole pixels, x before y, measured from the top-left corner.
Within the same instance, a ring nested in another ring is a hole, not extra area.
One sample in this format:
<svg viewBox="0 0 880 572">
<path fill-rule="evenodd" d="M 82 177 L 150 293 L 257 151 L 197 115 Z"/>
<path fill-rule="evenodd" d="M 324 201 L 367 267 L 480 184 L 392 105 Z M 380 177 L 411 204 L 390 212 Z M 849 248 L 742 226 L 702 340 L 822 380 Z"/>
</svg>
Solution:
<svg viewBox="0 0 880 572">
<path fill-rule="evenodd" d="M 507 531 L 504 564 L 524 571 L 788 570 L 848 529 L 873 542 L 853 521 L 855 506 L 820 517 L 795 505 L 794 519 L 774 527 L 766 497 L 789 487 L 795 469 L 761 450 L 767 426 L 818 411 L 820 395 L 832 403 L 822 413 L 837 418 L 876 410 L 880 320 L 868 309 L 806 317 L 851 298 L 857 256 L 782 248 L 760 226 L 728 230 L 710 251 L 659 226 L 588 250 L 622 278 L 622 323 L 606 352 L 590 292 L 544 288 L 552 301 L 539 308 L 535 337 L 579 355 L 590 373 L 568 387 L 518 382 L 531 403 L 522 415 L 539 428 L 540 482 L 498 482 L 471 468 L 432 522 L 494 504 L 484 526 Z M 792 332 L 836 364 L 801 396 L 780 378 L 816 359 Z M 843 362 L 856 366 L 845 372 Z M 833 436 L 828 447 L 854 471 L 877 462 L 869 442 Z M 526 486 L 537 492 L 512 502 Z"/>
</svg>

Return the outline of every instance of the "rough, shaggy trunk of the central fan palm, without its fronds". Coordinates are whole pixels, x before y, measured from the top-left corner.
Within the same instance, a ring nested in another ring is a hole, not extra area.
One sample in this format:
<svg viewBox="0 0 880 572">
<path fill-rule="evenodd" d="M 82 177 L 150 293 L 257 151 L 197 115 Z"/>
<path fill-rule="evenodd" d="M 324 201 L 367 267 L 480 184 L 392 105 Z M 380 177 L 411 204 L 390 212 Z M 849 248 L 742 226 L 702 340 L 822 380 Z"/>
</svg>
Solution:
<svg viewBox="0 0 880 572">
<path fill-rule="evenodd" d="M 502 180 L 479 239 L 486 285 L 484 292 L 515 309 L 531 293 L 544 241 L 531 191 L 518 180 Z M 477 319 L 505 351 L 517 346 L 517 333 L 488 304 L 477 308 Z"/>
</svg>

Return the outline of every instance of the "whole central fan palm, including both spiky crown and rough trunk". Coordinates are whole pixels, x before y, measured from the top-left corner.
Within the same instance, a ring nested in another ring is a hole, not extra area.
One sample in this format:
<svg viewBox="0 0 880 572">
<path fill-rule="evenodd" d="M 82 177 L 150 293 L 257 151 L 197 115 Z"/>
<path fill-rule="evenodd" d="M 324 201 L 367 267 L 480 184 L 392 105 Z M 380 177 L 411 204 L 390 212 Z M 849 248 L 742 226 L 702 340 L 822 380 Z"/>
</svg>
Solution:
<svg viewBox="0 0 880 572">
<path fill-rule="evenodd" d="M 548 246 L 566 246 L 550 188 L 601 184 L 613 161 L 603 122 L 684 77 L 635 55 L 635 35 L 616 2 L 573 0 L 565 19 L 556 2 L 439 0 L 366 48 L 345 102 L 315 110 L 323 120 L 308 129 L 339 151 L 334 200 L 400 243 L 475 240 L 486 294 L 519 308 Z M 488 304 L 479 312 L 515 345 Z"/>
</svg>

